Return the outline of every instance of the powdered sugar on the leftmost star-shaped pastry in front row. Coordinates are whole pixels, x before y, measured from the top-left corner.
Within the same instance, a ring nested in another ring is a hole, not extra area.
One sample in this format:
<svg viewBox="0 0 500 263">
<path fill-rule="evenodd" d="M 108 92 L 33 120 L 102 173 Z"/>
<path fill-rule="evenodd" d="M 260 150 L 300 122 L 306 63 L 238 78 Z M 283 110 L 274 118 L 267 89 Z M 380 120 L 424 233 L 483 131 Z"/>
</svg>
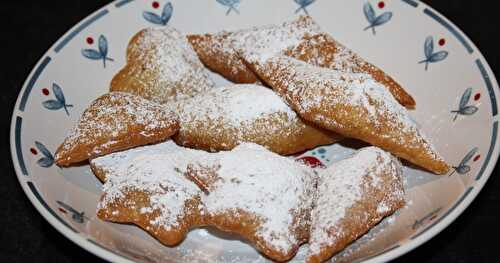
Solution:
<svg viewBox="0 0 500 263">
<path fill-rule="evenodd" d="M 124 198 L 126 191 L 142 191 L 149 194 L 150 206 L 139 211 L 158 210 L 159 215 L 150 223 L 166 230 L 175 228 L 185 212 L 185 201 L 200 194 L 200 189 L 183 173 L 188 163 L 205 154 L 169 141 L 92 160 L 93 165 L 107 172 L 103 186 L 105 195 L 98 209 L 105 209 L 108 204 Z"/>
</svg>

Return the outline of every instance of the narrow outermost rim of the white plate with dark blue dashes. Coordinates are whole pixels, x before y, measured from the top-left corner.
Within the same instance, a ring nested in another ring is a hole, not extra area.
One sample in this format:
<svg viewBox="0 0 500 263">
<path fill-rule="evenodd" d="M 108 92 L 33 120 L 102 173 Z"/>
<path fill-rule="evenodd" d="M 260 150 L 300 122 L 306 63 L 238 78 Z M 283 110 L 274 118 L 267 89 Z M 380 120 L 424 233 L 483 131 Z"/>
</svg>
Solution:
<svg viewBox="0 0 500 263">
<path fill-rule="evenodd" d="M 32 70 L 30 73 L 27 75 L 26 80 L 23 82 L 22 88 L 19 90 L 19 94 L 16 99 L 16 103 L 14 105 L 14 108 L 12 110 L 11 114 L 11 125 L 10 125 L 10 152 L 11 152 L 11 158 L 12 158 L 12 163 L 14 167 L 14 171 L 16 173 L 17 179 L 19 181 L 19 184 L 21 185 L 21 188 L 23 189 L 25 195 L 28 197 L 30 202 L 33 204 L 33 206 L 36 208 L 36 210 L 42 215 L 47 222 L 49 222 L 50 225 L 52 225 L 59 233 L 61 233 L 63 236 L 71 240 L 73 243 L 76 245 L 82 247 L 83 249 L 87 250 L 88 252 L 111 262 L 133 262 L 130 259 L 128 259 L 126 256 L 120 255 L 117 252 L 111 251 L 110 249 L 107 249 L 98 243 L 94 242 L 90 238 L 85 238 L 81 236 L 80 234 L 73 232 L 71 229 L 69 229 L 66 225 L 64 225 L 61 221 L 59 221 L 54 215 L 50 213 L 50 211 L 40 202 L 40 200 L 35 196 L 33 191 L 29 188 L 28 181 L 26 180 L 27 177 L 23 174 L 20 164 L 19 164 L 19 158 L 17 155 L 17 146 L 16 146 L 16 126 L 17 126 L 17 117 L 22 116 L 23 113 L 22 111 L 19 110 L 19 106 L 21 104 L 21 100 L 23 97 L 23 94 L 28 86 L 28 83 L 30 79 L 32 79 L 33 75 L 35 75 L 36 70 L 40 67 L 40 65 L 43 63 L 45 58 L 48 57 L 49 54 L 55 50 L 57 46 L 61 44 L 61 41 L 65 39 L 66 37 L 70 36 L 75 29 L 78 27 L 82 26 L 86 22 L 88 22 L 90 19 L 92 19 L 94 16 L 98 15 L 101 12 L 104 12 L 104 10 L 107 10 L 108 8 L 111 7 L 120 7 L 121 5 L 127 4 L 129 2 L 132 2 L 133 0 L 114 0 L 108 4 L 103 5 L 102 7 L 98 8 L 94 12 L 90 13 L 87 15 L 85 18 L 81 19 L 78 23 L 73 25 L 71 28 L 69 28 L 61 37 L 59 37 L 48 49 L 46 52 L 43 53 L 43 55 L 40 56 L 39 60 L 37 63 L 33 66 Z M 455 25 L 452 21 L 450 21 L 446 16 L 441 14 L 439 11 L 435 10 L 428 4 L 421 2 L 420 0 L 401 0 L 402 2 L 406 2 L 407 4 L 413 5 L 415 8 L 418 7 L 419 5 L 422 5 L 425 9 L 430 10 L 433 14 L 438 16 L 439 18 L 443 19 L 453 30 L 456 30 L 458 35 L 464 38 L 465 42 L 470 45 L 472 50 L 477 52 L 477 59 L 483 63 L 483 67 L 485 71 L 487 72 L 490 81 L 493 85 L 493 91 L 495 97 L 500 97 L 499 93 L 500 91 L 498 90 L 498 82 L 496 79 L 496 76 L 494 72 L 492 71 L 488 61 L 484 57 L 483 53 L 480 51 L 480 49 L 476 46 L 476 44 L 468 37 L 467 34 L 465 34 L 461 28 Z M 413 4 L 411 4 L 413 3 Z M 108 10 L 110 12 L 110 10 Z M 57 52 L 56 52 L 57 53 Z M 497 106 L 498 108 L 498 106 Z M 497 122 L 498 123 L 498 115 L 492 117 L 492 123 Z M 362 262 L 367 262 L 367 263 L 374 263 L 374 262 L 387 262 L 389 260 L 396 259 L 406 253 L 408 253 L 411 250 L 414 250 L 415 248 L 419 247 L 423 243 L 429 241 L 431 238 L 435 237 L 438 235 L 441 231 L 443 231 L 445 228 L 447 228 L 452 222 L 456 220 L 458 216 L 460 216 L 467 207 L 476 199 L 477 195 L 479 192 L 483 189 L 484 185 L 490 178 L 491 174 L 493 173 L 493 170 L 498 162 L 498 157 L 500 154 L 500 140 L 497 139 L 493 147 L 491 157 L 486 164 L 486 168 L 483 171 L 482 178 L 480 180 L 477 180 L 473 186 L 471 186 L 467 191 L 465 191 L 465 196 L 463 197 L 463 200 L 457 199 L 459 202 L 454 208 L 451 208 L 452 211 L 450 211 L 449 214 L 442 216 L 440 218 L 439 222 L 434 223 L 433 225 L 429 225 L 428 229 L 424 229 L 421 232 L 419 232 L 414 239 L 407 239 L 403 241 L 402 244 L 398 244 L 396 246 L 390 247 L 384 251 L 382 251 L 379 254 L 370 256 L 365 259 L 361 259 Z M 484 165 L 484 164 L 483 164 Z"/>
</svg>

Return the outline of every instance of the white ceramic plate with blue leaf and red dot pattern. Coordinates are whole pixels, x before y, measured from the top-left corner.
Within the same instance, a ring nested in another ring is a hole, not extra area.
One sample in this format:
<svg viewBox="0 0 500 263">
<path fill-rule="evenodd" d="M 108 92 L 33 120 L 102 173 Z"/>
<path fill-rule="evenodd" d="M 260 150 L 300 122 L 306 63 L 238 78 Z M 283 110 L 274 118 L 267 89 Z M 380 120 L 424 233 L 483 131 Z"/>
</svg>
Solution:
<svg viewBox="0 0 500 263">
<path fill-rule="evenodd" d="M 211 230 L 192 231 L 180 246 L 168 248 L 137 227 L 100 221 L 95 210 L 101 184 L 88 166 L 60 169 L 52 158 L 84 108 L 106 92 L 140 29 L 168 23 L 185 33 L 213 32 L 302 13 L 410 91 L 417 101 L 413 116 L 454 166 L 445 176 L 405 168 L 408 206 L 336 258 L 386 261 L 427 241 L 470 204 L 495 166 L 499 91 L 474 44 L 413 0 L 121 0 L 101 8 L 47 51 L 19 94 L 11 149 L 26 195 L 61 233 L 110 261 L 265 261 L 246 243 Z M 330 165 L 351 151 L 334 145 L 300 158 Z M 302 261 L 304 250 L 294 260 Z"/>
</svg>

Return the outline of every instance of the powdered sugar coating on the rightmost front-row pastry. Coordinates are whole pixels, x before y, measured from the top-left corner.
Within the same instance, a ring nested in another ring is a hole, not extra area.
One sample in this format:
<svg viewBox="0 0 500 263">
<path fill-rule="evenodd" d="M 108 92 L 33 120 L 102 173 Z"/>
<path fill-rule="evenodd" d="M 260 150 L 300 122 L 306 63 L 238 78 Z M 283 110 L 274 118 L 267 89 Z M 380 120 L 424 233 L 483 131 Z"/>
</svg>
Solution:
<svg viewBox="0 0 500 263">
<path fill-rule="evenodd" d="M 320 172 L 318 198 L 311 216 L 309 254 L 320 253 L 323 247 L 335 244 L 344 235 L 339 223 L 345 218 L 346 211 L 362 198 L 369 198 L 364 196 L 367 188 L 383 191 L 381 176 L 392 176 L 393 180 L 400 181 L 401 164 L 389 153 L 376 147 L 364 148 L 353 157 Z M 402 187 L 394 191 L 388 193 L 390 200 L 384 201 L 404 199 Z M 384 211 L 377 209 L 377 213 L 384 214 L 390 209 L 389 206 L 388 203 L 381 204 L 379 208 Z"/>
</svg>

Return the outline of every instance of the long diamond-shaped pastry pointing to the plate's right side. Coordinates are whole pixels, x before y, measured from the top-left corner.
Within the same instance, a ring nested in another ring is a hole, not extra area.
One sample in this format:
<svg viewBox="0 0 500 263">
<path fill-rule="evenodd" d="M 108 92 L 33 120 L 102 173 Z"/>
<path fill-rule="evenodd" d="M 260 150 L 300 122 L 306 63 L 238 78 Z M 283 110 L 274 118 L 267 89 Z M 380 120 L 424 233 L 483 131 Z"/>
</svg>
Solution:
<svg viewBox="0 0 500 263">
<path fill-rule="evenodd" d="M 283 55 L 258 58 L 247 51 L 242 54 L 249 65 L 303 119 L 436 174 L 448 172 L 448 164 L 407 110 L 370 75 L 316 67 Z"/>
</svg>

